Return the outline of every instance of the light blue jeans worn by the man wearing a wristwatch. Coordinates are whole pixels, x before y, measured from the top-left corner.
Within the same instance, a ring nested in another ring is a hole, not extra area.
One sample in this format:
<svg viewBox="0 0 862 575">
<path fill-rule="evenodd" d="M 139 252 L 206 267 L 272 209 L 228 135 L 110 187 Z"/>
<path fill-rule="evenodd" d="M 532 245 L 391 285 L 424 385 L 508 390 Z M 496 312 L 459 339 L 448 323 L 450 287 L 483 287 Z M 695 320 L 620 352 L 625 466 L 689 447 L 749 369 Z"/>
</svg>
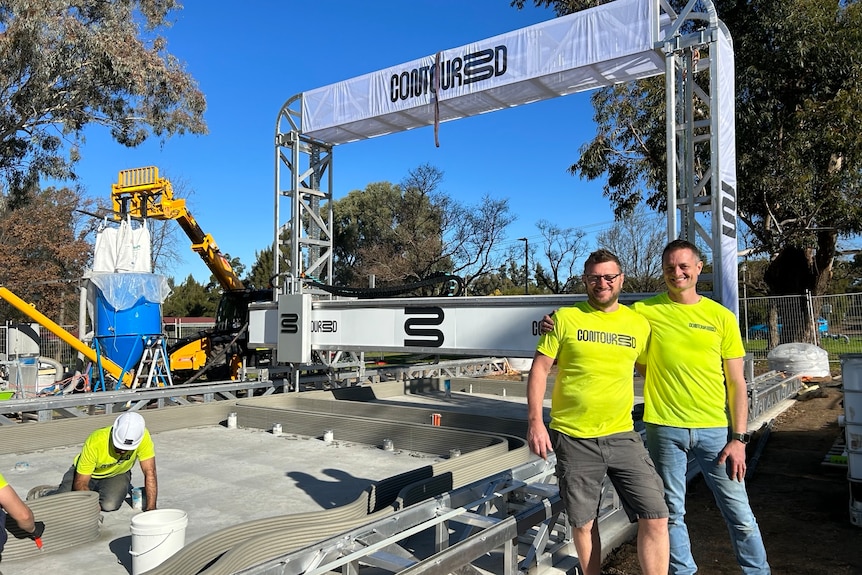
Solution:
<svg viewBox="0 0 862 575">
<path fill-rule="evenodd" d="M 766 549 L 757 520 L 748 504 L 745 483 L 728 476 L 724 464 L 716 464 L 727 445 L 726 427 L 681 428 L 646 424 L 647 449 L 664 481 L 664 495 L 670 516 L 670 573 L 692 575 L 697 565 L 691 555 L 685 526 L 685 491 L 688 461 L 700 468 L 730 531 L 736 560 L 745 575 L 768 575 Z"/>
</svg>

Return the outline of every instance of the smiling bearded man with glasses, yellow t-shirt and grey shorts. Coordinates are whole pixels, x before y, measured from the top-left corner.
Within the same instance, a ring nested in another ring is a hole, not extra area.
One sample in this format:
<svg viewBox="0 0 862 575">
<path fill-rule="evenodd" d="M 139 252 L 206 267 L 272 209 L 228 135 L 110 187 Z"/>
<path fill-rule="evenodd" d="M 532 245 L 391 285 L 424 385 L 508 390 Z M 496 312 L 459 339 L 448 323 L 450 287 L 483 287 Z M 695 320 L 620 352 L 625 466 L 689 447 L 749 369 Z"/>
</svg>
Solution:
<svg viewBox="0 0 862 575">
<path fill-rule="evenodd" d="M 645 358 L 649 323 L 618 302 L 625 276 L 607 250 L 584 264 L 588 300 L 557 311 L 556 325 L 539 339 L 527 383 L 530 449 L 556 454 L 560 496 L 566 506 L 581 571 L 599 575 L 598 516 L 605 475 L 638 522 L 638 558 L 645 575 L 668 570 L 668 510 L 661 479 L 634 431 L 634 366 Z M 543 402 L 557 361 L 550 432 Z"/>
</svg>

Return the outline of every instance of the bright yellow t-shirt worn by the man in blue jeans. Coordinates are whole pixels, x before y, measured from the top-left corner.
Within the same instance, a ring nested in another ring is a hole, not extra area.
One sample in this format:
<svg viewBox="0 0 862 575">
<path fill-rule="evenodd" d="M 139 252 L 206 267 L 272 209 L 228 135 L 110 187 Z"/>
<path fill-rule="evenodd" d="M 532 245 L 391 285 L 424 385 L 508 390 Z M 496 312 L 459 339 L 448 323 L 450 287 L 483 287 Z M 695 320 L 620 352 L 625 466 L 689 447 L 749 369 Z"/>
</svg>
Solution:
<svg viewBox="0 0 862 575">
<path fill-rule="evenodd" d="M 724 359 L 745 356 L 736 316 L 708 298 L 693 305 L 666 293 L 632 309 L 649 320 L 644 421 L 672 427 L 724 427 Z"/>
</svg>

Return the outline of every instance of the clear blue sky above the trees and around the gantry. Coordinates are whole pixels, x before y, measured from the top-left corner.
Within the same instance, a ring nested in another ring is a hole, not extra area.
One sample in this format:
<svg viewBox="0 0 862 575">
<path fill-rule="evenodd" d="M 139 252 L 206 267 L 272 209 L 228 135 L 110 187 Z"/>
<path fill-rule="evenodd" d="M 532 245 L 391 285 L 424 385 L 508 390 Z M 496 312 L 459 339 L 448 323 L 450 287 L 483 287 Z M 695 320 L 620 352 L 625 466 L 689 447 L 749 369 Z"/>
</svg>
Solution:
<svg viewBox="0 0 862 575">
<path fill-rule="evenodd" d="M 90 129 L 78 166 L 81 184 L 89 195 L 108 199 L 119 170 L 158 166 L 175 188 L 190 193 L 195 219 L 221 250 L 249 267 L 255 252 L 273 241 L 273 138 L 287 99 L 553 16 L 532 6 L 518 11 L 509 0 L 186 2 L 166 33 L 168 49 L 206 94 L 210 133 L 130 150 L 104 129 Z M 337 146 L 335 198 L 371 182 L 400 182 L 429 163 L 444 172 L 442 189 L 462 202 L 485 194 L 509 199 L 518 219 L 504 248 L 523 246 L 517 238 L 525 236 L 538 246 L 540 219 L 594 235 L 613 220 L 601 182 L 566 171 L 595 132 L 589 97 L 447 122 L 439 148 L 430 127 Z M 189 273 L 209 278 L 190 246 L 170 275 L 182 281 Z"/>
</svg>

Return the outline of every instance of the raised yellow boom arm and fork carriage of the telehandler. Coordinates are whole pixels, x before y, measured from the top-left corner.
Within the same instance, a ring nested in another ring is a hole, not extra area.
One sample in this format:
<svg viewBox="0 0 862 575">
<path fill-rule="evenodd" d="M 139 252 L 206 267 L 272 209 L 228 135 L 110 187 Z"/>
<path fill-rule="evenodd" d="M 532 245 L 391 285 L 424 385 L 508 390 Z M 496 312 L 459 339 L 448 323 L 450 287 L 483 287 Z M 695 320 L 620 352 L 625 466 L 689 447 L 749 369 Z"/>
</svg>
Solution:
<svg viewBox="0 0 862 575">
<path fill-rule="evenodd" d="M 174 198 L 171 183 L 167 178 L 159 177 L 156 166 L 121 170 L 117 183 L 111 186 L 111 202 L 115 219 L 131 215 L 136 218 L 176 220 L 192 241 L 192 250 L 201 257 L 222 289 L 245 289 L 245 284 L 222 255 L 213 237 L 204 233 L 186 208 L 186 201 Z"/>
</svg>

